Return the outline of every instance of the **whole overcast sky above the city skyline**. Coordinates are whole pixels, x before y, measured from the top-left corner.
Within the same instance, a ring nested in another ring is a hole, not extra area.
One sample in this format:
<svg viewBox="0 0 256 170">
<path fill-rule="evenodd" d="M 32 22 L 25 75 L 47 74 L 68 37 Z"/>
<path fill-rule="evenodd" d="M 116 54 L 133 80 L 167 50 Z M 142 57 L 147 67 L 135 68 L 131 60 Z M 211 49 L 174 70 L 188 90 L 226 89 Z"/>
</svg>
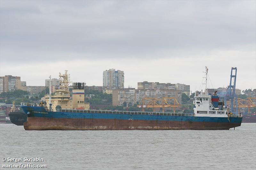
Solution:
<svg viewBox="0 0 256 170">
<path fill-rule="evenodd" d="M 170 82 L 199 89 L 256 87 L 256 1 L 0 1 L 0 74 L 44 86 L 68 70 L 102 86 L 124 71 L 124 86 Z M 201 86 L 202 87 L 202 86 Z"/>
</svg>

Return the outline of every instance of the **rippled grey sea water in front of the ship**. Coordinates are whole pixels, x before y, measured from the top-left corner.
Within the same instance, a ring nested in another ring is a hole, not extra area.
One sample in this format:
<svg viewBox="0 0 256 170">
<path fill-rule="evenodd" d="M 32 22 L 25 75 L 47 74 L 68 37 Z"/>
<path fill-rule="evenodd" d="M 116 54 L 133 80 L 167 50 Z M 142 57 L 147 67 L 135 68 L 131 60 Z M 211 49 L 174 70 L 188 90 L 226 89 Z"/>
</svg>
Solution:
<svg viewBox="0 0 256 170">
<path fill-rule="evenodd" d="M 35 169 L 3 168 L 32 163 L 47 170 L 255 170 L 256 124 L 221 131 L 25 131 L 1 124 L 0 157 L 0 169 Z"/>
</svg>

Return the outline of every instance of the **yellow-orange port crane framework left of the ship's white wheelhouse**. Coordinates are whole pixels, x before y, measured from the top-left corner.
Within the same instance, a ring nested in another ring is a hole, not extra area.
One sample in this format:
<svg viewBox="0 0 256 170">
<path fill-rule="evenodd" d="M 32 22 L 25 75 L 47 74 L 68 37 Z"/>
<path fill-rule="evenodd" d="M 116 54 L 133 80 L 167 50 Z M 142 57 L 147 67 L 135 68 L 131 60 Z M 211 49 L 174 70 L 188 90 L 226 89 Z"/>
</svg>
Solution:
<svg viewBox="0 0 256 170">
<path fill-rule="evenodd" d="M 175 108 L 180 107 L 181 104 L 178 103 L 175 97 L 162 97 L 154 98 L 147 97 L 143 98 L 137 107 L 141 108 L 142 111 L 145 111 L 145 108 L 153 108 L 153 112 L 156 112 L 156 108 L 162 108 L 163 112 L 166 108 L 173 108 L 175 113 Z"/>
</svg>

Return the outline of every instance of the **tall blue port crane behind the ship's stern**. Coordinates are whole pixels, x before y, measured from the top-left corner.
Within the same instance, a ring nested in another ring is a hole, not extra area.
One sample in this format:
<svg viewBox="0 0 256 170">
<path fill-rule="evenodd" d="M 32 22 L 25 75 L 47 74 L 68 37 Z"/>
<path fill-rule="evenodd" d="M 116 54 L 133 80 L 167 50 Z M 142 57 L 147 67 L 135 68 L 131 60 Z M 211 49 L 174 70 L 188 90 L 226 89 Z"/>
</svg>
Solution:
<svg viewBox="0 0 256 170">
<path fill-rule="evenodd" d="M 233 75 L 233 71 L 235 72 Z M 230 82 L 224 97 L 225 107 L 227 107 L 227 100 L 230 100 L 231 112 L 234 111 L 234 99 L 236 100 L 236 114 L 237 114 L 237 96 L 236 96 L 236 67 L 231 68 Z M 233 83 L 232 83 L 233 82 Z M 233 84 L 233 85 L 232 85 Z"/>
</svg>

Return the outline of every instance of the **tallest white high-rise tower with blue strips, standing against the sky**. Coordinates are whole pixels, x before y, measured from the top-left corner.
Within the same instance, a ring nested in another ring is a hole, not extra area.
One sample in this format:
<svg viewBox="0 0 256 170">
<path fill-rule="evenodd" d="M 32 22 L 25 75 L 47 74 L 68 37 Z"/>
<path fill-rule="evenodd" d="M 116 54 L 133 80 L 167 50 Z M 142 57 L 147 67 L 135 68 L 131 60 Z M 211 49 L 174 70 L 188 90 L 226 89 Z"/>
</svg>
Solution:
<svg viewBox="0 0 256 170">
<path fill-rule="evenodd" d="M 123 89 L 124 71 L 116 71 L 115 69 L 103 71 L 103 87 L 107 87 L 107 89 Z"/>
</svg>

